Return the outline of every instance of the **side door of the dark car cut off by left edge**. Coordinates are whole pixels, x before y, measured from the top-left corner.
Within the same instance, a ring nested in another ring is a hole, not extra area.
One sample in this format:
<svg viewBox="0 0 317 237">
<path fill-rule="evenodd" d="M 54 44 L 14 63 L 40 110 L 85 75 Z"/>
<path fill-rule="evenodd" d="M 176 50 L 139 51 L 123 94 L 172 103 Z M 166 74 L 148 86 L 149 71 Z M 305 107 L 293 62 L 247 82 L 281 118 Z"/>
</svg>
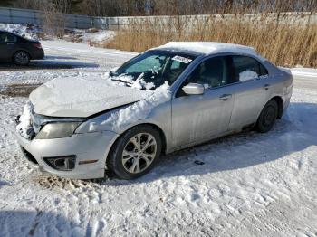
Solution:
<svg viewBox="0 0 317 237">
<path fill-rule="evenodd" d="M 16 36 L 12 33 L 0 33 L 0 60 L 11 61 L 15 50 Z"/>
</svg>

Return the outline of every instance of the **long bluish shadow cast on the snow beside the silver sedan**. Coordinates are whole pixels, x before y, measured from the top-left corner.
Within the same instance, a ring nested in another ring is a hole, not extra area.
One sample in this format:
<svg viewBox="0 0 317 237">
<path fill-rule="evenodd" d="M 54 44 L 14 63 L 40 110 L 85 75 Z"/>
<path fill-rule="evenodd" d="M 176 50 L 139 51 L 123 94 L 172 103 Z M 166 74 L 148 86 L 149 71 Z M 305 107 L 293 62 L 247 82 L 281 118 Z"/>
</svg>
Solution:
<svg viewBox="0 0 317 237">
<path fill-rule="evenodd" d="M 209 173 L 257 166 L 292 156 L 307 147 L 317 146 L 317 104 L 291 103 L 273 130 L 262 134 L 246 131 L 218 138 L 205 144 L 162 156 L 149 174 L 132 181 L 105 180 L 103 185 L 148 183 L 174 176 Z"/>
</svg>

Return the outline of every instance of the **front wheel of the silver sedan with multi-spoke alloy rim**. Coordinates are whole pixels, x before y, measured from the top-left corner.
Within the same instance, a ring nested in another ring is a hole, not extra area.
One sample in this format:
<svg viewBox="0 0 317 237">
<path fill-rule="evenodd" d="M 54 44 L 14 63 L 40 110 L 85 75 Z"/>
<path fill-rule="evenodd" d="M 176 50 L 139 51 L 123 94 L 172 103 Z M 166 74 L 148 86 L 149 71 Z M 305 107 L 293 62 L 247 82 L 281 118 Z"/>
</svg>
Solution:
<svg viewBox="0 0 317 237">
<path fill-rule="evenodd" d="M 149 125 L 131 128 L 113 145 L 107 166 L 121 179 L 133 179 L 149 172 L 161 152 L 159 131 Z"/>
</svg>

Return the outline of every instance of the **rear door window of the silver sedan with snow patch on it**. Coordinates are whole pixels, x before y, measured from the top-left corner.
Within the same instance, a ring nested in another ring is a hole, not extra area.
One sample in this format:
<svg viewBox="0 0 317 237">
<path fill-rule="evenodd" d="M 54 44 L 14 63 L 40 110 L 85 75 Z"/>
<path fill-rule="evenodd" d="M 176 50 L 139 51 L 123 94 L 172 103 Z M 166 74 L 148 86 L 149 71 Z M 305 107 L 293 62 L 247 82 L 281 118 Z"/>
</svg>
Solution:
<svg viewBox="0 0 317 237">
<path fill-rule="evenodd" d="M 265 78 L 268 71 L 260 62 L 247 56 L 232 56 L 235 69 L 235 81 L 251 81 Z"/>
</svg>

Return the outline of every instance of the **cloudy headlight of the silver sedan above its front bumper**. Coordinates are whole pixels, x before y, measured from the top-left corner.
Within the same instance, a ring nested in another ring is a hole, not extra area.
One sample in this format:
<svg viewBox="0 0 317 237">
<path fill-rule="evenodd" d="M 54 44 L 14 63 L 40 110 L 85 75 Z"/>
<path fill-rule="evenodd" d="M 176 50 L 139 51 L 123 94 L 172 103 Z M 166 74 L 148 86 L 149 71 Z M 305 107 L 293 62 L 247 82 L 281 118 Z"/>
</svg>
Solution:
<svg viewBox="0 0 317 237">
<path fill-rule="evenodd" d="M 35 139 L 71 137 L 80 124 L 80 122 L 49 123 L 40 130 Z"/>
</svg>

